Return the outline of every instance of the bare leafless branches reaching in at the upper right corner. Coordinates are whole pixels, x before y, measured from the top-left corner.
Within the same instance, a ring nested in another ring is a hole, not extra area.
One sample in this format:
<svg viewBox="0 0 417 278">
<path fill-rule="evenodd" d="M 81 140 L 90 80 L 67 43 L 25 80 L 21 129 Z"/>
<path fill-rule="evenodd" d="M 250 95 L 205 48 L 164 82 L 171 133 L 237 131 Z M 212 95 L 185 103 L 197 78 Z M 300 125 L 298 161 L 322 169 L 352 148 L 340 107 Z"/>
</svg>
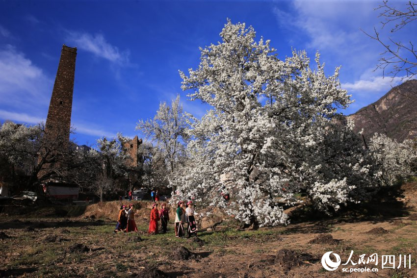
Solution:
<svg viewBox="0 0 417 278">
<path fill-rule="evenodd" d="M 389 5 L 388 0 L 384 0 L 383 4 L 375 8 L 375 10 L 381 12 L 379 15 L 382 18 L 381 29 L 386 25 L 391 25 L 391 33 L 402 29 L 417 19 L 417 4 L 411 1 L 406 4 L 404 10 L 399 10 Z M 385 48 L 385 51 L 381 53 L 381 58 L 375 70 L 381 69 L 384 76 L 391 76 L 392 78 L 401 76 L 402 80 L 409 80 L 417 74 L 417 51 L 411 41 L 408 44 L 391 38 L 385 41 L 375 27 L 374 35 L 363 32 Z"/>
</svg>

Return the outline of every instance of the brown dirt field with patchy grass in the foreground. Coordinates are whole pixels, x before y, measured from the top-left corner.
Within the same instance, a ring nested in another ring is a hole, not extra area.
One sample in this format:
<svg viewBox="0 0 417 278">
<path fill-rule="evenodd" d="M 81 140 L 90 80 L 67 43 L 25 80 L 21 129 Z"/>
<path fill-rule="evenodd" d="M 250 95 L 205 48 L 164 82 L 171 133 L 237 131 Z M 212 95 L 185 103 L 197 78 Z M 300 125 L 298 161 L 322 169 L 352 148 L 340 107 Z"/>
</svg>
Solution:
<svg viewBox="0 0 417 278">
<path fill-rule="evenodd" d="M 197 240 L 175 238 L 172 225 L 167 234 L 147 235 L 147 211 L 137 214 L 139 232 L 129 234 L 114 234 L 114 221 L 85 219 L 92 215 L 88 208 L 69 218 L 3 213 L 0 277 L 417 277 L 414 187 L 398 200 L 402 217 L 344 216 L 244 231 L 222 223 Z M 390 210 L 390 203 L 383 207 Z M 352 250 L 354 262 L 377 253 L 378 265 L 366 267 L 378 272 L 342 272 L 364 267 L 350 263 L 332 272 L 323 268 L 324 253 L 337 253 L 345 263 Z M 399 254 L 411 254 L 411 269 L 408 262 L 397 268 Z M 396 255 L 395 269 L 382 269 L 382 255 Z"/>
</svg>

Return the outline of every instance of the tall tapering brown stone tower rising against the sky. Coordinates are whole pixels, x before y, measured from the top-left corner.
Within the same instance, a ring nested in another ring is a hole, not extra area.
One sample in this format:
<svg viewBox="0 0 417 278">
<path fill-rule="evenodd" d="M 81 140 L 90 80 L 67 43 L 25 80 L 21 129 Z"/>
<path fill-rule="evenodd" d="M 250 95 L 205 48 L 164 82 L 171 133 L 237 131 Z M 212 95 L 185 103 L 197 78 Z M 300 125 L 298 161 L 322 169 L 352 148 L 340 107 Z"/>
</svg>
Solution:
<svg viewBox="0 0 417 278">
<path fill-rule="evenodd" d="M 62 46 L 45 126 L 48 136 L 60 133 L 67 142 L 70 140 L 76 56 L 77 48 Z"/>
</svg>

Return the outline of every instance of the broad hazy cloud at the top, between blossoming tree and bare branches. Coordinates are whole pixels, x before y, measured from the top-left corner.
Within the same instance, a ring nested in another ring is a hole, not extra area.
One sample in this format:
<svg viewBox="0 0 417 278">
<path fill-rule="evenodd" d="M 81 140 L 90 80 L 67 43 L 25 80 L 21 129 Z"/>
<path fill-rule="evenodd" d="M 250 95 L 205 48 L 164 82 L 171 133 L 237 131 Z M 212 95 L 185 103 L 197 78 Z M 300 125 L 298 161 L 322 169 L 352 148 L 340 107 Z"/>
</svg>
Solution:
<svg viewBox="0 0 417 278">
<path fill-rule="evenodd" d="M 296 49 L 319 51 L 323 61 L 342 66 L 341 74 L 353 76 L 376 65 L 380 46 L 369 39 L 361 28 L 371 31 L 379 25 L 380 2 L 371 1 L 293 1 L 288 10 L 273 9 L 281 28 L 286 28 L 287 40 Z"/>
</svg>

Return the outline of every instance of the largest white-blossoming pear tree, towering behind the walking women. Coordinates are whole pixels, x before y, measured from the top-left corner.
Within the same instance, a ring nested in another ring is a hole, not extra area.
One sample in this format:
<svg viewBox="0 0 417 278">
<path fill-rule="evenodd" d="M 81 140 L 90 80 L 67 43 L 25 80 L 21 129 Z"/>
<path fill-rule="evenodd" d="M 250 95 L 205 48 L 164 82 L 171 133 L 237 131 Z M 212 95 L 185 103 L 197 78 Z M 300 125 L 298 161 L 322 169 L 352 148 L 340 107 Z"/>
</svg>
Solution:
<svg viewBox="0 0 417 278">
<path fill-rule="evenodd" d="M 339 68 L 326 76 L 317 53 L 312 69 L 305 51 L 281 60 L 245 24 L 228 20 L 220 36 L 200 48 L 196 70 L 180 72 L 191 100 L 212 108 L 190 121 L 188 167 L 173 180 L 178 197 L 261 226 L 288 223 L 282 204 L 297 202 L 295 193 L 323 210 L 356 201 L 370 167 L 352 124 L 340 124 L 337 109 L 351 100 Z"/>
</svg>

